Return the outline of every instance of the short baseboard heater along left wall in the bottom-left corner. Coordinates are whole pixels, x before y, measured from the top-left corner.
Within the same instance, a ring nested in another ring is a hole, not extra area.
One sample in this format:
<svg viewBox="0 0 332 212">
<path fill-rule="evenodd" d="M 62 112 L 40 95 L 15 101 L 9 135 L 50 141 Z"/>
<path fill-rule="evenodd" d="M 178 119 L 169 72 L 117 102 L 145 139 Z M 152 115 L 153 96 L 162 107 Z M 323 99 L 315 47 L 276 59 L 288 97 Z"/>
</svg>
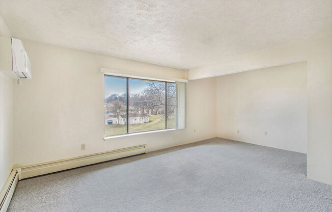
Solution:
<svg viewBox="0 0 332 212">
<path fill-rule="evenodd" d="M 0 212 L 7 211 L 9 202 L 12 199 L 12 196 L 13 196 L 16 184 L 17 184 L 17 180 L 18 180 L 18 173 L 16 170 L 13 170 L 10 173 L 3 189 L 0 192 L 0 198 L 1 198 L 0 199 L 0 201 L 1 201 Z"/>
</svg>

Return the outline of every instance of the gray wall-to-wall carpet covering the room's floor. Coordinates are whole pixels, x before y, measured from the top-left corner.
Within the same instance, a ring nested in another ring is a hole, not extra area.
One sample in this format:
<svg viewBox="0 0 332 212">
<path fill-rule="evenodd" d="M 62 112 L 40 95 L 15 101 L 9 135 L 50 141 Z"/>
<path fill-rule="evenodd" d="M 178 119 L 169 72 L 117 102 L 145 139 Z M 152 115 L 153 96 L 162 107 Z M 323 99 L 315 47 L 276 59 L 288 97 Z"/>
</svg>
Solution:
<svg viewBox="0 0 332 212">
<path fill-rule="evenodd" d="M 24 179 L 8 211 L 332 211 L 306 154 L 210 139 Z"/>
</svg>

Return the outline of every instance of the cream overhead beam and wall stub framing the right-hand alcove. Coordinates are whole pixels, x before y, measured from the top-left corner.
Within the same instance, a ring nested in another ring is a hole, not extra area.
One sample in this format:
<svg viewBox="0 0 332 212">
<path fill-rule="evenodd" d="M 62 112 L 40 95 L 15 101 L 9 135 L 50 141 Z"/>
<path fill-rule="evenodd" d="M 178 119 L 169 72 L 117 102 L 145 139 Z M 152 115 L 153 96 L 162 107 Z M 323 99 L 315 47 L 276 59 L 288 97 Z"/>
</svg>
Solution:
<svg viewBox="0 0 332 212">
<path fill-rule="evenodd" d="M 308 61 L 307 177 L 332 182 L 331 36 L 264 49 L 216 66 L 189 70 L 189 80 Z"/>
</svg>

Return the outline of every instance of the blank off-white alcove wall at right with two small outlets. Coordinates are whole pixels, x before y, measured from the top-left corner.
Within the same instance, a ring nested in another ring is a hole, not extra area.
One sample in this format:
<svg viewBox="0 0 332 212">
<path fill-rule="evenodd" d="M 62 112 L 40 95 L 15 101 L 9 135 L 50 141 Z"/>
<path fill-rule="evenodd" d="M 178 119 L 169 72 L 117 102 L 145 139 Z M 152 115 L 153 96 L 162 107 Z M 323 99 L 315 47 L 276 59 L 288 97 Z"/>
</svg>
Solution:
<svg viewBox="0 0 332 212">
<path fill-rule="evenodd" d="M 216 88 L 217 137 L 307 153 L 306 62 L 218 76 Z"/>
</svg>

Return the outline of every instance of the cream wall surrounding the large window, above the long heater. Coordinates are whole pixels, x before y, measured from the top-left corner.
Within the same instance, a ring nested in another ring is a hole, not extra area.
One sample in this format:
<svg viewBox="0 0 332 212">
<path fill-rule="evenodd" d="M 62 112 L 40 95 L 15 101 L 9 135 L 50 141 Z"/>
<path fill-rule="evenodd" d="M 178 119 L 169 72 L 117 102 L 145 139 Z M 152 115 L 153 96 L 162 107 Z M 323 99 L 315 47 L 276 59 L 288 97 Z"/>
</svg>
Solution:
<svg viewBox="0 0 332 212">
<path fill-rule="evenodd" d="M 100 67 L 176 78 L 185 78 L 186 71 L 31 41 L 23 44 L 32 80 L 14 85 L 15 166 L 139 144 L 152 151 L 215 137 L 215 78 L 187 84 L 186 129 L 104 141 Z"/>
</svg>

